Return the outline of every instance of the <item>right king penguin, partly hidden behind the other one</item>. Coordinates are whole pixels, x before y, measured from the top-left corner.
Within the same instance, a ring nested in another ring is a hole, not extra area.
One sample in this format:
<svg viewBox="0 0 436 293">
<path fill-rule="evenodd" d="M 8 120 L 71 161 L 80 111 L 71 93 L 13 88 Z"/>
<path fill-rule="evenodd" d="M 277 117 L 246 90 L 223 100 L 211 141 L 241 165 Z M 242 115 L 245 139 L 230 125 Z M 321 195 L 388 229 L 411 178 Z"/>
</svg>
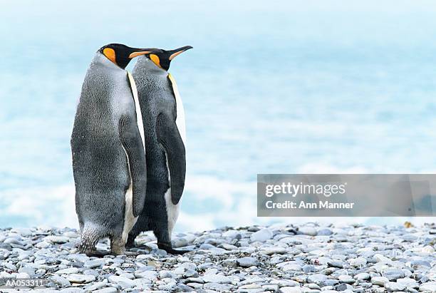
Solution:
<svg viewBox="0 0 436 293">
<path fill-rule="evenodd" d="M 185 187 L 185 113 L 175 79 L 167 70 L 175 56 L 190 48 L 155 49 L 142 56 L 133 68 L 144 121 L 147 196 L 128 237 L 128 247 L 135 245 L 140 232 L 152 230 L 160 249 L 172 254 L 185 252 L 174 250 L 171 244 Z"/>
</svg>

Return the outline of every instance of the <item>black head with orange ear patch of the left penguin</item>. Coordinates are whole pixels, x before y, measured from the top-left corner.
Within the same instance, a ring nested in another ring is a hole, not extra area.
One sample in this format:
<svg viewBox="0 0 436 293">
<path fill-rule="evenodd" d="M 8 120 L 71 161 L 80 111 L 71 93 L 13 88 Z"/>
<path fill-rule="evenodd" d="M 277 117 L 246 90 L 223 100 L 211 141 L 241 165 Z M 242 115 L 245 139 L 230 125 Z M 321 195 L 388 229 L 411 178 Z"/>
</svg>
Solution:
<svg viewBox="0 0 436 293">
<path fill-rule="evenodd" d="M 103 46 L 98 50 L 106 58 L 120 66 L 120 68 L 125 68 L 128 66 L 130 60 L 140 55 L 145 55 L 151 51 L 156 50 L 155 48 L 130 48 L 123 45 L 122 43 L 110 43 Z"/>
</svg>

